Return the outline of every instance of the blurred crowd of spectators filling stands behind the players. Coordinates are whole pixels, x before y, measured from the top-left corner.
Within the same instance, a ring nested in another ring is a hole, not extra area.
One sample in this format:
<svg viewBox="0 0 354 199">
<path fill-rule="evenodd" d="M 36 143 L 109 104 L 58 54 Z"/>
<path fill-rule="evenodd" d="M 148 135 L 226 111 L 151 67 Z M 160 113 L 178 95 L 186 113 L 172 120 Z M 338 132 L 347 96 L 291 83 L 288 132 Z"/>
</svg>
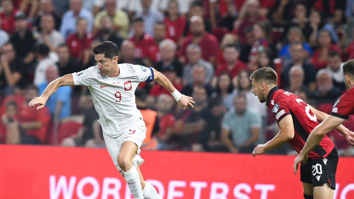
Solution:
<svg viewBox="0 0 354 199">
<path fill-rule="evenodd" d="M 87 87 L 60 87 L 39 111 L 27 103 L 54 79 L 95 66 L 114 42 L 119 62 L 154 67 L 196 102 L 182 110 L 161 85 L 136 103 L 147 150 L 251 153 L 279 131 L 251 93 L 250 74 L 330 113 L 354 58 L 354 0 L 1 0 L 0 143 L 104 147 Z M 354 131 L 354 117 L 344 125 Z M 337 131 L 339 154 L 354 156 Z M 285 144 L 276 154 L 293 154 Z"/>
</svg>

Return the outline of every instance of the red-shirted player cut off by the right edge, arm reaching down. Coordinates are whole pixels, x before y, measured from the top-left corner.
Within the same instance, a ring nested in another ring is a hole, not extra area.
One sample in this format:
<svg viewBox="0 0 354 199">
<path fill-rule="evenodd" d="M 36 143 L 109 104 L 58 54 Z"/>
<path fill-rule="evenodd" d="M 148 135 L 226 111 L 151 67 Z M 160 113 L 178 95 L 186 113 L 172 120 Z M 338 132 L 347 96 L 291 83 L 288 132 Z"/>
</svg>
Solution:
<svg viewBox="0 0 354 199">
<path fill-rule="evenodd" d="M 354 59 L 344 63 L 343 73 L 345 84 L 349 90 L 347 90 L 334 104 L 330 116 L 310 133 L 304 148 L 294 161 L 293 169 L 295 174 L 297 173 L 298 164 L 301 162 L 306 163 L 308 161 L 307 154 L 311 153 L 311 150 L 318 146 L 322 137 L 326 136 L 328 132 L 342 124 L 344 120 L 349 118 L 350 114 L 354 114 Z M 342 133 L 342 135 L 346 137 L 349 144 L 354 146 L 353 132 Z"/>
</svg>

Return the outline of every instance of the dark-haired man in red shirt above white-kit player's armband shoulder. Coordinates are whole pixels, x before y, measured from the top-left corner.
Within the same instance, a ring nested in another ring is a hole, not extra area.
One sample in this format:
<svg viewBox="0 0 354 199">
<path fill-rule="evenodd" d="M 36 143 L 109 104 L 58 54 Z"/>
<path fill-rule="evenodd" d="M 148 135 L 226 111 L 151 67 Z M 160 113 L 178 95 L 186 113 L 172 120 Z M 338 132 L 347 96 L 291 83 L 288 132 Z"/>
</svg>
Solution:
<svg viewBox="0 0 354 199">
<path fill-rule="evenodd" d="M 148 55 L 149 46 L 154 45 L 154 39 L 144 33 L 144 21 L 141 17 L 134 19 L 133 21 L 134 35 L 129 38 L 135 45 L 135 58 L 143 58 Z"/>
</svg>

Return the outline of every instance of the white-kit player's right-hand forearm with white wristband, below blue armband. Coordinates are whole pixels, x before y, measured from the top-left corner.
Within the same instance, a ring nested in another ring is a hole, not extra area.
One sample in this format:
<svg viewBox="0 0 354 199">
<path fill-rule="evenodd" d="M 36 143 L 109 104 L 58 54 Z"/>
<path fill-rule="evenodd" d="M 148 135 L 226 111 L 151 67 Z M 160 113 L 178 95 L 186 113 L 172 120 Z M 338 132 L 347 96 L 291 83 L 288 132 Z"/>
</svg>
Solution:
<svg viewBox="0 0 354 199">
<path fill-rule="evenodd" d="M 183 109 L 187 109 L 188 106 L 194 108 L 192 97 L 182 95 L 177 89 L 173 86 L 171 81 L 162 73 L 158 72 L 156 69 L 152 68 L 154 72 L 154 80 L 159 83 L 161 86 L 165 87 L 172 95 L 175 97 L 179 106 L 183 106 Z"/>
</svg>

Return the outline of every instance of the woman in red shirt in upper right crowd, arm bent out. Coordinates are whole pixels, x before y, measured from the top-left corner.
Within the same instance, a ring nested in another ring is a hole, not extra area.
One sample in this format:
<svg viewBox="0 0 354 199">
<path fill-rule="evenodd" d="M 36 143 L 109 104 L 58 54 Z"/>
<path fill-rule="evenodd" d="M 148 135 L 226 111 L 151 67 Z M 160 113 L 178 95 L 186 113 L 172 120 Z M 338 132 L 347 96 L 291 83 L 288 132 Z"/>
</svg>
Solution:
<svg viewBox="0 0 354 199">
<path fill-rule="evenodd" d="M 318 36 L 319 48 L 313 53 L 311 62 L 315 66 L 316 70 L 325 68 L 327 65 L 328 53 L 330 51 L 337 51 L 339 55 L 342 55 L 341 49 L 338 46 L 331 43 L 331 35 L 328 30 L 322 29 Z"/>
</svg>

